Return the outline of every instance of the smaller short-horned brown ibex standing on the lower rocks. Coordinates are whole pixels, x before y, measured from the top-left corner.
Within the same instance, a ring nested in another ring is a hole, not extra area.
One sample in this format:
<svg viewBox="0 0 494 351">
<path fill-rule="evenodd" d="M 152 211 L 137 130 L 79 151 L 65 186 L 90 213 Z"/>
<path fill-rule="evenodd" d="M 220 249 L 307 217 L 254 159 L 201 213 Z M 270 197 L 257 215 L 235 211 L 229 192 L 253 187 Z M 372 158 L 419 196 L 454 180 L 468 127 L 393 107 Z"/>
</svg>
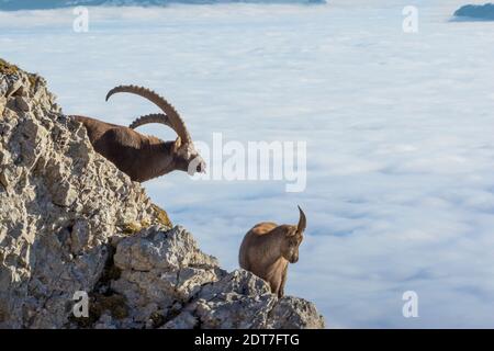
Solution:
<svg viewBox="0 0 494 351">
<path fill-rule="evenodd" d="M 259 223 L 246 234 L 240 246 L 240 268 L 267 281 L 278 297 L 284 295 L 289 262 L 299 261 L 299 246 L 307 222 L 300 206 L 299 211 L 299 225 Z"/>
</svg>

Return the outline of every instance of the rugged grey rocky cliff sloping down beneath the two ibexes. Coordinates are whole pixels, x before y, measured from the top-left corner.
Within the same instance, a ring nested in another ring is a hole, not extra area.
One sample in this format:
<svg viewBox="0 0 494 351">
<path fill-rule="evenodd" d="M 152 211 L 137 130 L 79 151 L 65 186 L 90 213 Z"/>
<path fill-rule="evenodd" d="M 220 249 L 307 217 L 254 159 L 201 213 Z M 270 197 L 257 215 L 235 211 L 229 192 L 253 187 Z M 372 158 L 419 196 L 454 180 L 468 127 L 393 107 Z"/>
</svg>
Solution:
<svg viewBox="0 0 494 351">
<path fill-rule="evenodd" d="M 43 78 L 0 59 L 0 328 L 323 327 L 312 303 L 221 269 L 93 151 Z"/>
</svg>

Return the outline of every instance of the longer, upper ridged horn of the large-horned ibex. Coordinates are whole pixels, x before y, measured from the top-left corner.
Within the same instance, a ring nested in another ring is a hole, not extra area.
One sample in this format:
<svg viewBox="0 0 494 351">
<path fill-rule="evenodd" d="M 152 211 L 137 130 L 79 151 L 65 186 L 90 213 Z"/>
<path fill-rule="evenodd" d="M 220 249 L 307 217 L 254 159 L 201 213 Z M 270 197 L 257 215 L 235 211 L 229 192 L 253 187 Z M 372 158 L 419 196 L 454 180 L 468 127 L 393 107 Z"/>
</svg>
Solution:
<svg viewBox="0 0 494 351">
<path fill-rule="evenodd" d="M 180 117 L 179 113 L 175 107 L 165 100 L 165 98 L 158 95 L 153 90 L 137 87 L 137 86 L 119 86 L 110 90 L 106 94 L 106 101 L 110 99 L 111 95 L 119 93 L 119 92 L 128 92 L 132 94 L 136 94 L 139 97 L 143 97 L 154 104 L 156 104 L 158 107 L 161 109 L 162 112 L 168 116 L 171 127 L 173 131 L 178 134 L 178 136 L 183 140 L 183 143 L 190 143 L 191 137 L 189 135 L 189 132 L 187 131 L 186 123 Z"/>
</svg>

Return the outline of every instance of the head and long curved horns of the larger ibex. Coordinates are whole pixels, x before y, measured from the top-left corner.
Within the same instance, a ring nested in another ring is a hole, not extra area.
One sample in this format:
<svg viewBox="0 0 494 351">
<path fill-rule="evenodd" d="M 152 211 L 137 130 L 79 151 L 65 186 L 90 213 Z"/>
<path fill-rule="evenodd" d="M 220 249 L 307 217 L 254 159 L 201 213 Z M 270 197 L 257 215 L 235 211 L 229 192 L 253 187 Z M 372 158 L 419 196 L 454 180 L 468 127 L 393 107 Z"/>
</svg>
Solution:
<svg viewBox="0 0 494 351">
<path fill-rule="evenodd" d="M 178 170 L 182 170 L 188 172 L 189 174 L 194 174 L 195 172 L 203 173 L 205 172 L 205 162 L 202 159 L 201 155 L 199 155 L 198 150 L 194 147 L 192 138 L 189 134 L 189 131 L 186 127 L 186 123 L 180 117 L 179 113 L 175 107 L 166 101 L 164 98 L 158 95 L 156 92 L 136 86 L 120 86 L 113 88 L 106 94 L 106 101 L 111 95 L 119 92 L 128 92 L 139 97 L 143 97 L 150 102 L 155 103 L 164 113 L 148 114 L 135 120 L 130 128 L 134 129 L 141 125 L 149 124 L 149 123 L 159 123 L 165 124 L 172 128 L 178 137 L 173 145 L 173 163 Z M 168 162 L 169 160 L 164 160 L 164 162 Z M 162 165 L 166 167 L 166 165 Z"/>
</svg>

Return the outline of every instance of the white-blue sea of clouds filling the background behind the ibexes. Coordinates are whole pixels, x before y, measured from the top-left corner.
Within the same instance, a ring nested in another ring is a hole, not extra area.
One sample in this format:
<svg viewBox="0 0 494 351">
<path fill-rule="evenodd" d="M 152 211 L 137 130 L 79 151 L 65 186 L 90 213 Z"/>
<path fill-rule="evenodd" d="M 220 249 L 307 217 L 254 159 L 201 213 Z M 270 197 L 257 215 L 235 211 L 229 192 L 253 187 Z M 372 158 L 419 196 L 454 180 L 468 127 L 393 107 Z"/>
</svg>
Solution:
<svg viewBox="0 0 494 351">
<path fill-rule="evenodd" d="M 307 188 L 145 183 L 228 269 L 257 222 L 307 214 L 287 293 L 330 328 L 494 327 L 494 36 L 452 22 L 462 1 L 221 4 L 0 12 L 0 57 L 37 71 L 67 114 L 128 124 L 156 107 L 109 89 L 156 89 L 194 139 L 305 140 Z M 143 132 L 175 138 L 166 127 Z M 404 318 L 415 291 L 418 318 Z"/>
</svg>

